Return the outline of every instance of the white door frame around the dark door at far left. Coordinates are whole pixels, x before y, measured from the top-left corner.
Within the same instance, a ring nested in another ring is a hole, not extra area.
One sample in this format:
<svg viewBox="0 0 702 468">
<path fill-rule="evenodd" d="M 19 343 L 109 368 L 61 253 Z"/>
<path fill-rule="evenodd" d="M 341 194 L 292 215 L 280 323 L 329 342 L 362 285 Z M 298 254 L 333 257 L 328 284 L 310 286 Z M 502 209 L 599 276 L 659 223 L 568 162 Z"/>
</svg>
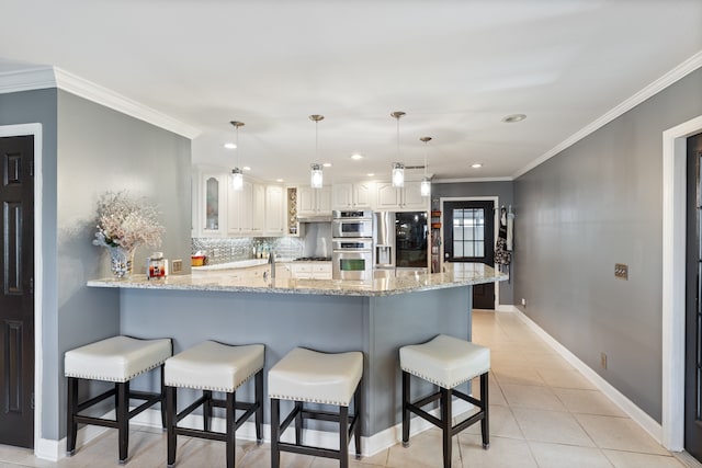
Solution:
<svg viewBox="0 0 702 468">
<path fill-rule="evenodd" d="M 34 452 L 42 441 L 42 124 L 0 125 L 0 137 L 34 136 Z"/>
</svg>

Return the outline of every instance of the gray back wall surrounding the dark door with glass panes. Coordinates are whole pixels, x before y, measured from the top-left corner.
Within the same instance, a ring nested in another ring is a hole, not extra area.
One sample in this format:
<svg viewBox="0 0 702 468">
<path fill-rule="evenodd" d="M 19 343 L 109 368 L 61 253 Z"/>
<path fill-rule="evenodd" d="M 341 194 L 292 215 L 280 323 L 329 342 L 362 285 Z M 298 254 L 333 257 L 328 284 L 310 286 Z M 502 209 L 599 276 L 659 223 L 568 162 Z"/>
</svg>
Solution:
<svg viewBox="0 0 702 468">
<path fill-rule="evenodd" d="M 460 183 L 433 183 L 431 184 L 431 209 L 441 209 L 441 197 L 464 197 L 469 198 L 473 196 L 497 196 L 499 197 L 500 206 L 514 205 L 514 190 L 513 182 L 460 182 Z M 519 215 L 519 214 L 517 214 Z M 521 260 L 518 242 L 518 232 L 514 230 L 514 251 L 512 253 L 511 271 L 514 271 L 514 266 Z M 513 274 L 512 274 L 513 276 Z M 509 282 L 499 283 L 500 288 L 500 304 L 512 305 L 514 304 L 514 282 L 510 278 Z"/>
</svg>

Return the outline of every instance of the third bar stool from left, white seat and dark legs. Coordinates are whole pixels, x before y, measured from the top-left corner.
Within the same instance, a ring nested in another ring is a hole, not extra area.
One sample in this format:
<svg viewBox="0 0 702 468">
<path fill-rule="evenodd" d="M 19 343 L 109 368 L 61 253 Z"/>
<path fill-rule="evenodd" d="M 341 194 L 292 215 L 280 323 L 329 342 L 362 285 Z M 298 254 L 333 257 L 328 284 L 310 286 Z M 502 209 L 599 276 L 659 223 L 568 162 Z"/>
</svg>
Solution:
<svg viewBox="0 0 702 468">
<path fill-rule="evenodd" d="M 349 466 L 349 438 L 354 434 L 355 455 L 361 458 L 361 379 L 363 353 L 327 354 L 295 347 L 268 373 L 268 392 L 271 398 L 271 467 L 279 468 L 281 452 L 292 452 L 339 460 L 341 468 Z M 353 398 L 353 414 L 349 421 L 349 406 Z M 281 424 L 280 401 L 291 400 L 295 406 Z M 305 403 L 333 404 L 338 411 L 313 410 Z M 313 447 L 303 444 L 305 419 L 339 423 L 339 449 Z M 281 442 L 281 436 L 295 421 L 295 443 Z"/>
</svg>

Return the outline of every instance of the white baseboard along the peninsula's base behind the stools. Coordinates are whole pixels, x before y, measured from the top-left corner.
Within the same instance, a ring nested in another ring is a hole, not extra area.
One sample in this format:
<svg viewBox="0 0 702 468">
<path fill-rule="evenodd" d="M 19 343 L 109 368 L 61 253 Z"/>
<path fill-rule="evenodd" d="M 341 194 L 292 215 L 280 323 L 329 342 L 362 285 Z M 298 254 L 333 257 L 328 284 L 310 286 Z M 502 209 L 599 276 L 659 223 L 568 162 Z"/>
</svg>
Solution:
<svg viewBox="0 0 702 468">
<path fill-rule="evenodd" d="M 463 401 L 463 400 L 454 400 L 453 401 L 453 413 L 454 419 L 461 418 L 463 413 L 471 411 L 473 409 L 473 404 Z M 429 411 L 430 414 L 439 416 L 438 409 Z M 103 414 L 101 418 L 114 418 L 114 410 Z M 223 418 L 213 418 L 212 419 L 212 430 L 213 431 L 225 431 L 225 420 Z M 143 427 L 161 427 L 161 412 L 160 410 L 149 409 L 140 414 L 136 415 L 132 419 L 131 425 L 134 426 L 143 426 Z M 179 423 L 179 425 L 184 427 L 195 427 L 202 429 L 202 416 L 197 415 L 188 415 L 183 418 L 183 420 Z M 433 425 L 419 416 L 412 416 L 410 423 L 410 437 L 427 431 L 428 429 L 433 427 Z M 263 441 L 267 443 L 271 442 L 271 426 L 270 424 L 263 424 Z M 78 430 L 78 435 L 76 438 L 76 447 L 79 449 L 82 445 L 98 437 L 102 433 L 107 431 L 107 427 L 101 426 L 91 426 L 87 425 Z M 286 431 L 283 441 L 285 442 L 294 442 L 294 432 Z M 315 430 L 305 430 L 305 443 L 325 447 L 325 448 L 338 448 L 339 447 L 339 435 L 336 432 L 327 432 L 327 431 L 315 431 Z M 241 427 L 237 430 L 237 438 L 244 441 L 256 441 L 256 425 L 251 421 L 247 421 L 241 424 Z M 395 444 L 398 444 L 403 441 L 403 424 L 398 423 L 392 427 L 383 430 L 376 434 L 373 434 L 370 437 L 361 437 L 361 454 L 364 457 L 371 457 L 376 455 L 377 453 L 392 447 Z M 115 446 L 115 450 L 117 447 Z M 349 445 L 349 452 L 353 453 L 355 450 L 355 443 L 351 441 Z M 116 452 L 115 452 L 116 454 Z M 37 458 L 49 460 L 49 461 L 58 461 L 59 459 L 66 457 L 66 437 L 60 441 L 49 441 L 42 440 L 39 444 L 34 447 L 34 455 Z"/>
</svg>

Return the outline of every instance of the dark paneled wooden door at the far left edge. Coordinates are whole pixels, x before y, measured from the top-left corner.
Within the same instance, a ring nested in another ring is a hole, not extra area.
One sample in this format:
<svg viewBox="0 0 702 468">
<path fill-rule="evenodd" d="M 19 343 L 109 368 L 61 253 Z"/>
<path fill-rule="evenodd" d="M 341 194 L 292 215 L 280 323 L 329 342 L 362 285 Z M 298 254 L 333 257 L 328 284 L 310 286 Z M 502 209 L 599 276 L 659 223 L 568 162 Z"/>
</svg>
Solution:
<svg viewBox="0 0 702 468">
<path fill-rule="evenodd" d="M 34 446 L 34 137 L 0 138 L 0 444 Z"/>
</svg>

